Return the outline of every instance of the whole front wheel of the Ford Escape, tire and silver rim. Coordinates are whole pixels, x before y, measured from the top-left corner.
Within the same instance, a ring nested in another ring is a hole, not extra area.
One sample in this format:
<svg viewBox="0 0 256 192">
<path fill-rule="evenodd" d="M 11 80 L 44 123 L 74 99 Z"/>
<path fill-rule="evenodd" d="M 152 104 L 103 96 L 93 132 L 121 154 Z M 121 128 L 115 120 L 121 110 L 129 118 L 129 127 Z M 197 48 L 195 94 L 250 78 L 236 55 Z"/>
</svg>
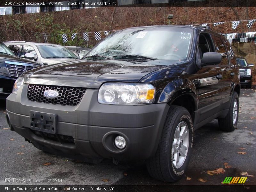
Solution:
<svg viewBox="0 0 256 192">
<path fill-rule="evenodd" d="M 149 174 L 167 182 L 180 180 L 184 175 L 193 145 L 193 123 L 188 110 L 171 106 L 155 156 L 147 161 Z"/>
</svg>

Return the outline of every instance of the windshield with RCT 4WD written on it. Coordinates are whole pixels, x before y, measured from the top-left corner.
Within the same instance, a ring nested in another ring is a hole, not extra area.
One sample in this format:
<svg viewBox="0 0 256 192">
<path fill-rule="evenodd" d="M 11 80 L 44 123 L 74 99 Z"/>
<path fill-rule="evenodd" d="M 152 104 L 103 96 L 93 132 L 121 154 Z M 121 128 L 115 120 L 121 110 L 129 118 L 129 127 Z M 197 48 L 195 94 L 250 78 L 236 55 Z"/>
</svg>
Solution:
<svg viewBox="0 0 256 192">
<path fill-rule="evenodd" d="M 107 36 L 86 56 L 141 55 L 164 60 L 186 60 L 193 30 L 182 27 L 124 29 Z"/>
</svg>

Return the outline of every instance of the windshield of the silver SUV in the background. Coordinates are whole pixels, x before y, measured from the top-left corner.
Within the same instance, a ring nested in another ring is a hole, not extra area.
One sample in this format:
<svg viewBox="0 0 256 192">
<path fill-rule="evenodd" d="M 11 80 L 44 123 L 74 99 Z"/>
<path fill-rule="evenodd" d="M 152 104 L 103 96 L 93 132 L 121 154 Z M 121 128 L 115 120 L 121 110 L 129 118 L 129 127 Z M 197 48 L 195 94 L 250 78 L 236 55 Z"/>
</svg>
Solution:
<svg viewBox="0 0 256 192">
<path fill-rule="evenodd" d="M 60 45 L 36 45 L 44 59 L 50 58 L 77 58 L 74 53 Z"/>
</svg>

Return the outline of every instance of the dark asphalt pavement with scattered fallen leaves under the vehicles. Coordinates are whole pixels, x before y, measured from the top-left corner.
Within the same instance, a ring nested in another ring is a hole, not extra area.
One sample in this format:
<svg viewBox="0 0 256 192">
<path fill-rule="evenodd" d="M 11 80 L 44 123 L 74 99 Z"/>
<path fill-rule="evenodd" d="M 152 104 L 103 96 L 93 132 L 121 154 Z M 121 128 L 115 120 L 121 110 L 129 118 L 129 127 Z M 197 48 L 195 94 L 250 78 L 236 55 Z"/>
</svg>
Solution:
<svg viewBox="0 0 256 192">
<path fill-rule="evenodd" d="M 244 185 L 256 185 L 255 89 L 241 89 L 234 132 L 220 131 L 217 120 L 195 131 L 188 170 L 175 183 L 152 179 L 144 161 L 88 164 L 44 153 L 5 129 L 5 101 L 0 102 L 0 185 L 222 185 L 225 177 L 242 175 L 247 175 Z"/>
</svg>

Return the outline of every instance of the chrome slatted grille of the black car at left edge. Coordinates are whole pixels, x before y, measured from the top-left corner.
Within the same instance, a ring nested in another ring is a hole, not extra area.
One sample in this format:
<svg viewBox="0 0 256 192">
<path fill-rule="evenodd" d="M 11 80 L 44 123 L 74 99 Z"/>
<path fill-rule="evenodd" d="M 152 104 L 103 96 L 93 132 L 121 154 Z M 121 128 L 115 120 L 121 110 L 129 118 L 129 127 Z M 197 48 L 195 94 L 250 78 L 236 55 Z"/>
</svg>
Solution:
<svg viewBox="0 0 256 192">
<path fill-rule="evenodd" d="M 12 61 L 5 61 L 6 68 L 11 76 L 19 77 L 22 73 L 25 73 L 31 69 L 37 68 L 37 65 L 29 63 L 18 63 Z"/>
</svg>

